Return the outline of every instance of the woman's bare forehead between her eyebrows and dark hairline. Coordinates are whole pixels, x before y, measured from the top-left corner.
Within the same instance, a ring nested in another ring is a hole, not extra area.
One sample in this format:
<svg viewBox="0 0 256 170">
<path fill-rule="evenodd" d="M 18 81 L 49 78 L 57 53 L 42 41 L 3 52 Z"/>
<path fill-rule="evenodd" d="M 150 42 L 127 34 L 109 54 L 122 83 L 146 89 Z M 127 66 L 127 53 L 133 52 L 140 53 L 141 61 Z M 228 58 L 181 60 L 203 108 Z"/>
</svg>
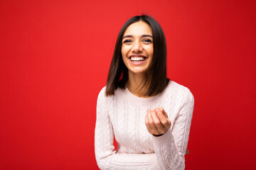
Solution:
<svg viewBox="0 0 256 170">
<path fill-rule="evenodd" d="M 152 29 L 149 24 L 144 21 L 132 23 L 125 30 L 124 35 L 152 35 Z"/>
</svg>

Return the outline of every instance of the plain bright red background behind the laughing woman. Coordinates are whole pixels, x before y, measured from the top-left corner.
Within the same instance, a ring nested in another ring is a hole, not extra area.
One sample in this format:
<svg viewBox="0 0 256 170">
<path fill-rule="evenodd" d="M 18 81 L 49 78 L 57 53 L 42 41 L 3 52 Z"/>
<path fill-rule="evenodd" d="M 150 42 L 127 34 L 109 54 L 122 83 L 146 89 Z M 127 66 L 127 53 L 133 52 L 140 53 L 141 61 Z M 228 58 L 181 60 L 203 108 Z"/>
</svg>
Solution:
<svg viewBox="0 0 256 170">
<path fill-rule="evenodd" d="M 195 109 L 186 169 L 255 169 L 255 1 L 0 1 L 0 169 L 97 169 L 97 94 L 148 13 Z"/>
</svg>

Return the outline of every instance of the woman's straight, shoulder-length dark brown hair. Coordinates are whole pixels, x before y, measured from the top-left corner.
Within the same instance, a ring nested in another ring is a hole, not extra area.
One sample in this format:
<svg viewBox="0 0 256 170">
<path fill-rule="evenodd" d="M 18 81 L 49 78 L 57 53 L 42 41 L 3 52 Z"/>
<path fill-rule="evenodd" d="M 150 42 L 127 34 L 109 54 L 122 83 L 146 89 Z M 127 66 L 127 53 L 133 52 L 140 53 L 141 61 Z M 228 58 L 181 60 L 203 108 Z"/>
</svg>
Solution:
<svg viewBox="0 0 256 170">
<path fill-rule="evenodd" d="M 106 96 L 114 95 L 114 90 L 118 87 L 125 89 L 127 83 L 128 69 L 122 60 L 122 38 L 129 25 L 138 21 L 144 21 L 149 24 L 153 33 L 154 54 L 149 69 L 146 71 L 146 77 L 143 86 L 147 83 L 145 96 L 156 96 L 161 93 L 169 83 L 166 77 L 166 39 L 164 31 L 159 23 L 151 16 L 134 16 L 122 26 L 117 36 L 117 42 L 114 47 L 114 54 L 110 64 L 110 70 L 107 75 Z"/>
</svg>

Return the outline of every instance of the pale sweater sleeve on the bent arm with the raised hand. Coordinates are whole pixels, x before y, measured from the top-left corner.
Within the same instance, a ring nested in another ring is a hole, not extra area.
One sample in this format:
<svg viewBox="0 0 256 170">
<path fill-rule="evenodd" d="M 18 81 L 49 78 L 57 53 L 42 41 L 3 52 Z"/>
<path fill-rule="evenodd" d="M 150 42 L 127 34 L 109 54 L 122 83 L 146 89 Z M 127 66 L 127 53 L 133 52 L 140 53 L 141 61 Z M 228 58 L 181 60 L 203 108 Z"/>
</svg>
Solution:
<svg viewBox="0 0 256 170">
<path fill-rule="evenodd" d="M 153 137 L 156 157 L 161 169 L 181 170 L 185 169 L 186 147 L 191 127 L 194 98 L 191 92 L 186 91 L 186 97 L 181 104 L 173 129 L 169 129 L 160 137 Z"/>
</svg>

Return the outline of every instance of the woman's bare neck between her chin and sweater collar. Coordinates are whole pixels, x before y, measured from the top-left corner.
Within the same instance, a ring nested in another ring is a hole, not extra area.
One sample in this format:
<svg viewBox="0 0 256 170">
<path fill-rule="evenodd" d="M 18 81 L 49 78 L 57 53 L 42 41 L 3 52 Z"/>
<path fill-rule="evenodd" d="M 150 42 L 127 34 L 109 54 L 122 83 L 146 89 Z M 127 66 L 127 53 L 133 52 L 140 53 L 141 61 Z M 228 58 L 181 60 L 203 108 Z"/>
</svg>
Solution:
<svg viewBox="0 0 256 170">
<path fill-rule="evenodd" d="M 127 88 L 129 91 L 138 97 L 148 97 L 145 96 L 147 84 L 144 85 L 145 74 L 134 74 L 129 72 L 129 79 L 127 81 Z"/>
</svg>

